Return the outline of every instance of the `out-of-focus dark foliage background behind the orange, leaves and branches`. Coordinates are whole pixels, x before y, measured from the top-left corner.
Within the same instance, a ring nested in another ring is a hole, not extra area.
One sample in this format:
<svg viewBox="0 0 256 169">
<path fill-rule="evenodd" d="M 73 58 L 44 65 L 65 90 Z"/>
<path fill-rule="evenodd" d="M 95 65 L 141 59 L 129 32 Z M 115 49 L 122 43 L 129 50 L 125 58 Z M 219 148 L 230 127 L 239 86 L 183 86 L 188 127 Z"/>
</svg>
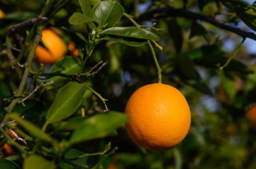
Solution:
<svg viewBox="0 0 256 169">
<path fill-rule="evenodd" d="M 152 7 L 183 8 L 186 1 L 175 0 L 125 0 L 119 1 L 125 12 L 135 18 Z M 247 1 L 253 3 L 253 1 Z M 96 0 L 90 3 L 97 3 Z M 245 32 L 254 32 L 230 9 L 219 6 L 218 1 L 187 2 L 186 9 L 202 15 L 215 15 L 215 19 Z M 1 0 L 0 9 L 5 16 L 0 19 L 0 51 L 5 49 L 5 36 L 10 25 L 36 17 L 44 5 L 43 0 Z M 53 17 L 48 27 L 58 27 L 68 44 L 83 46 L 79 37 L 65 27 L 88 34 L 86 25 L 70 25 L 69 17 L 81 12 L 78 1 L 71 1 Z M 226 14 L 228 13 L 228 15 Z M 231 13 L 231 14 L 230 14 Z M 230 19 L 232 17 L 232 19 Z M 225 22 L 226 21 L 226 22 Z M 150 152 L 136 146 L 122 127 L 118 135 L 77 145 L 84 152 L 97 152 L 108 142 L 119 149 L 104 161 L 106 168 L 256 168 L 256 44 L 210 23 L 183 17 L 164 17 L 139 21 L 164 30 L 156 49 L 163 75 L 163 83 L 177 87 L 186 97 L 191 108 L 191 129 L 184 141 L 172 150 Z M 131 25 L 122 18 L 117 25 Z M 27 30 L 28 27 L 26 28 Z M 26 29 L 20 36 L 26 36 Z M 254 32 L 255 33 L 255 32 Z M 67 54 L 71 56 L 72 54 Z M 234 56 L 228 66 L 220 70 L 226 60 Z M 0 96 L 9 97 L 19 84 L 18 75 L 10 74 L 5 67 L 7 57 L 0 55 Z M 157 71 L 148 46 L 130 47 L 106 42 L 98 44 L 88 60 L 93 66 L 100 61 L 108 64 L 96 76 L 86 79 L 95 91 L 108 99 L 108 109 L 123 112 L 125 104 L 144 84 L 157 82 Z M 38 67 L 37 60 L 34 66 Z M 51 65 L 44 66 L 47 71 Z M 89 69 L 89 68 L 88 68 Z M 3 73 L 4 72 L 4 73 Z M 5 76 L 3 74 L 9 74 Z M 52 89 L 43 95 L 51 103 Z M 90 94 L 88 94 L 90 95 Z M 47 107 L 47 105 L 44 105 Z M 104 109 L 104 105 L 90 95 L 85 101 L 86 111 L 92 113 Z M 92 157 L 90 162 L 96 160 Z"/>
</svg>

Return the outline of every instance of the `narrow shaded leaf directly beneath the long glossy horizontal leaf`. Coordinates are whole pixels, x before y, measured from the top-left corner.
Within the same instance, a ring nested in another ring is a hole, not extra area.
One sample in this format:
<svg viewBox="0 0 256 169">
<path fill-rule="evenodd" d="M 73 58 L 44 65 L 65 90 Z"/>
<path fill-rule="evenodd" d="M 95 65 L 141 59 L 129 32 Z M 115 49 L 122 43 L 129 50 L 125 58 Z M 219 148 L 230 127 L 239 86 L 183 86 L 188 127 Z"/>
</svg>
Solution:
<svg viewBox="0 0 256 169">
<path fill-rule="evenodd" d="M 134 46 L 134 47 L 139 47 L 139 46 L 143 46 L 144 44 L 146 44 L 146 41 L 135 41 L 135 39 L 128 39 L 128 38 L 112 38 L 110 36 L 105 36 L 104 38 L 101 38 L 100 40 L 109 40 L 109 41 L 114 41 L 114 42 L 119 42 L 122 44 L 126 44 L 129 46 Z"/>
</svg>

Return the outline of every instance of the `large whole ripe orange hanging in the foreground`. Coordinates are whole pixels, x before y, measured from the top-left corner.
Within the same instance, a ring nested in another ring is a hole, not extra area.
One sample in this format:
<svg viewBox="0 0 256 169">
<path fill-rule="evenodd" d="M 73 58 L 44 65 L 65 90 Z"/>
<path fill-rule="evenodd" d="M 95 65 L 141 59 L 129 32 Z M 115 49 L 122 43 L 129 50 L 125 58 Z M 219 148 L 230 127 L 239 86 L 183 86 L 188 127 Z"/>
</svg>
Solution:
<svg viewBox="0 0 256 169">
<path fill-rule="evenodd" d="M 183 94 L 167 84 L 148 84 L 131 97 L 125 107 L 126 129 L 133 142 L 148 150 L 168 150 L 185 138 L 191 123 Z"/>
</svg>

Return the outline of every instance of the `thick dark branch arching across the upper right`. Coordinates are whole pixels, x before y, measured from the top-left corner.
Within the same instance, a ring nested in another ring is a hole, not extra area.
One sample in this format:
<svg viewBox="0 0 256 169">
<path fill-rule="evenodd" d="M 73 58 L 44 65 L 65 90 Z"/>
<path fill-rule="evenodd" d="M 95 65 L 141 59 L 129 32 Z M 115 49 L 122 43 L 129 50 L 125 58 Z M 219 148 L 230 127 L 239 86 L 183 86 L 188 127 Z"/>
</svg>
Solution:
<svg viewBox="0 0 256 169">
<path fill-rule="evenodd" d="M 137 21 L 147 20 L 147 19 L 159 19 L 164 17 L 186 17 L 188 19 L 199 19 L 201 21 L 206 21 L 215 25 L 216 27 L 220 27 L 222 30 L 227 30 L 229 32 L 233 32 L 242 38 L 250 38 L 252 40 L 256 40 L 256 34 L 253 32 L 245 32 L 236 27 L 232 27 L 230 25 L 226 25 L 225 23 L 220 23 L 216 21 L 214 18 L 206 15 L 202 15 L 200 13 L 195 13 L 192 11 L 187 11 L 185 9 L 175 9 L 173 7 L 158 7 L 155 9 L 150 9 L 145 13 L 142 13 L 137 17 Z"/>
</svg>

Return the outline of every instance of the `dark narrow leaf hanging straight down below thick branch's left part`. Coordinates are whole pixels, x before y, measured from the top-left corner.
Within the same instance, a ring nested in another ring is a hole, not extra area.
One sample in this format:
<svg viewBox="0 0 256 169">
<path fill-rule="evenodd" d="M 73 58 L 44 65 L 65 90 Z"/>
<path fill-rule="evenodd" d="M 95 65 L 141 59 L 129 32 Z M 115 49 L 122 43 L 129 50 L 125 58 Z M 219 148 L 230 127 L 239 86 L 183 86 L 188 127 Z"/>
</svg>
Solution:
<svg viewBox="0 0 256 169">
<path fill-rule="evenodd" d="M 177 19 L 170 19 L 168 23 L 168 32 L 177 53 L 181 52 L 183 45 L 183 28 L 179 25 Z"/>
</svg>

